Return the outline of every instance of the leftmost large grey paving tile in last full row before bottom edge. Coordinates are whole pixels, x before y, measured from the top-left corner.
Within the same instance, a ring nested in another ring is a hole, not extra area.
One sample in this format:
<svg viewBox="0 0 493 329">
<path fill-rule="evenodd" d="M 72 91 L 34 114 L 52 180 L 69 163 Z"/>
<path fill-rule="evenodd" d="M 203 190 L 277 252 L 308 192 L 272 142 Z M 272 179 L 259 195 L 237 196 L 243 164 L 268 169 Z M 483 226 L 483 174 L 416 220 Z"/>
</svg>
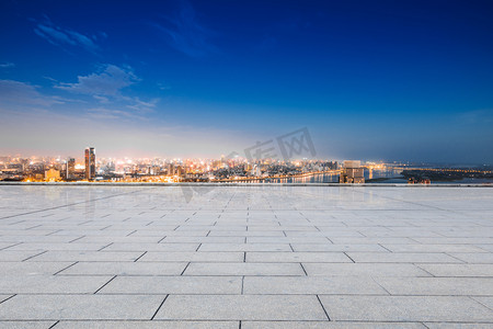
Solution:
<svg viewBox="0 0 493 329">
<path fill-rule="evenodd" d="M 164 296 L 16 295 L 0 306 L 0 320 L 149 320 Z"/>
</svg>

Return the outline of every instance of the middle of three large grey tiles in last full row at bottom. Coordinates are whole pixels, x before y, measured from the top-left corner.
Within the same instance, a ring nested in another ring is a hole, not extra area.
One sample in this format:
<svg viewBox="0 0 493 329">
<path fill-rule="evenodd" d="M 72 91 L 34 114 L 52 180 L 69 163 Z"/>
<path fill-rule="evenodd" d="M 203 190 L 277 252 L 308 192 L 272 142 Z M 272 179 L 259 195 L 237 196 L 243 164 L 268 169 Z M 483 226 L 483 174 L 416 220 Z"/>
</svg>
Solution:
<svg viewBox="0 0 493 329">
<path fill-rule="evenodd" d="M 170 295 L 156 319 L 326 320 L 316 296 Z"/>
</svg>

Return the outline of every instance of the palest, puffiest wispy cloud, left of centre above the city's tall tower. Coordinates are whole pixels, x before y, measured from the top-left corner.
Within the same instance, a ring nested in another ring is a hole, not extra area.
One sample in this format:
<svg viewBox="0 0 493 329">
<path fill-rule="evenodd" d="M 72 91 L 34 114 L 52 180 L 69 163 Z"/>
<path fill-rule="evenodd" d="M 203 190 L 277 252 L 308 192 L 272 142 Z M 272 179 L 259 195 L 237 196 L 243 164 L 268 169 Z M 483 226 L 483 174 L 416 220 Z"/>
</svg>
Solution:
<svg viewBox="0 0 493 329">
<path fill-rule="evenodd" d="M 105 97 L 118 97 L 121 90 L 140 81 L 129 67 L 117 67 L 115 65 L 103 65 L 100 69 L 89 76 L 79 76 L 74 83 L 61 82 L 56 88 L 74 93 L 83 93 L 95 97 L 102 102 L 107 101 Z"/>
</svg>

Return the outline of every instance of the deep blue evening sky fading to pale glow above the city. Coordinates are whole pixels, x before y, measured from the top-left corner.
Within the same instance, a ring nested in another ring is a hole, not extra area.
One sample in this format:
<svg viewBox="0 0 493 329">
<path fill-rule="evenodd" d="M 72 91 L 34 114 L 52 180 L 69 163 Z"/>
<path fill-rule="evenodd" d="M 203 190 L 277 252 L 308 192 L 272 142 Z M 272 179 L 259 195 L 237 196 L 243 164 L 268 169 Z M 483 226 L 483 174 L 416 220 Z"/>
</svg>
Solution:
<svg viewBox="0 0 493 329">
<path fill-rule="evenodd" d="M 491 1 L 0 3 L 0 154 L 493 162 Z"/>
</svg>

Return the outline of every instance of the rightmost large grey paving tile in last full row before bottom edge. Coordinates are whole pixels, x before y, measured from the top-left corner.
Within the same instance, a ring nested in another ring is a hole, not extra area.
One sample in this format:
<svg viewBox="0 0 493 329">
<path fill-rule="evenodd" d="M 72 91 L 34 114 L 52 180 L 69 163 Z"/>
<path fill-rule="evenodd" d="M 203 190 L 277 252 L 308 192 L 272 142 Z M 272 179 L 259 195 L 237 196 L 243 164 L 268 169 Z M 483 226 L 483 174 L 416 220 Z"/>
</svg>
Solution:
<svg viewBox="0 0 493 329">
<path fill-rule="evenodd" d="M 493 313 L 462 296 L 320 296 L 331 319 L 349 321 L 493 321 Z"/>
</svg>

